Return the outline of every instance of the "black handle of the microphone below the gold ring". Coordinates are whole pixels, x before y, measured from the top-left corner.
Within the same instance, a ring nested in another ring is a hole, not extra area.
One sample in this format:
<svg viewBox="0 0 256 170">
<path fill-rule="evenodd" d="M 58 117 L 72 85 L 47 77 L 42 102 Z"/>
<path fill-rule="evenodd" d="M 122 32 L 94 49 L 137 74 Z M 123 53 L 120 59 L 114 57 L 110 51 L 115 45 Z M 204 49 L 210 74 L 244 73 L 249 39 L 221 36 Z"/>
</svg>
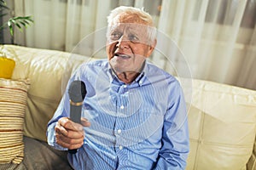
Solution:
<svg viewBox="0 0 256 170">
<path fill-rule="evenodd" d="M 70 119 L 73 122 L 81 123 L 82 105 L 70 105 Z M 77 149 L 68 150 L 69 153 L 77 153 Z"/>
</svg>

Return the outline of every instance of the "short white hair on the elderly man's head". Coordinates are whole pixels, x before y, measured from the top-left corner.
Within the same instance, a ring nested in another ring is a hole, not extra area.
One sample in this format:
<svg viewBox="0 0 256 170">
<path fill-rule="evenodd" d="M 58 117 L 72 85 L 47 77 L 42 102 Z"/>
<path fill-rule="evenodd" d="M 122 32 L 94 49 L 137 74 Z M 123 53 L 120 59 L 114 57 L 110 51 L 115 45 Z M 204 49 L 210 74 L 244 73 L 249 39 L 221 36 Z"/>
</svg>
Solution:
<svg viewBox="0 0 256 170">
<path fill-rule="evenodd" d="M 143 8 L 135 8 L 135 7 L 127 7 L 127 6 L 119 6 L 114 8 L 110 14 L 108 15 L 108 29 L 116 23 L 119 23 L 119 15 L 120 14 L 131 14 L 133 16 L 137 16 L 138 19 L 143 21 L 143 24 L 148 27 L 148 38 L 151 43 L 154 43 L 156 37 L 156 28 L 153 24 L 153 19 L 150 14 L 144 11 Z M 108 35 L 108 32 L 107 32 Z M 151 44 L 150 43 L 150 44 Z"/>
</svg>

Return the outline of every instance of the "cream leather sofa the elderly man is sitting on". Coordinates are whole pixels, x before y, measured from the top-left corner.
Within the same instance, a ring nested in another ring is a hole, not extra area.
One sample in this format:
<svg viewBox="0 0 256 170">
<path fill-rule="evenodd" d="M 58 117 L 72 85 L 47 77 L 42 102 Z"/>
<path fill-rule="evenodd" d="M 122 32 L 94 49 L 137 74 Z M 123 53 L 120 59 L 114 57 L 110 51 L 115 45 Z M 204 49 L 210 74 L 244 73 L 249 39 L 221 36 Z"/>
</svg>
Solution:
<svg viewBox="0 0 256 170">
<path fill-rule="evenodd" d="M 89 58 L 38 48 L 0 46 L 15 59 L 12 79 L 30 81 L 24 122 L 24 159 L 0 169 L 71 169 L 66 153 L 45 143 L 46 125 L 71 72 Z M 193 79 L 188 103 L 189 170 L 256 169 L 256 91 Z M 1 141 L 0 141 L 1 142 Z"/>
</svg>

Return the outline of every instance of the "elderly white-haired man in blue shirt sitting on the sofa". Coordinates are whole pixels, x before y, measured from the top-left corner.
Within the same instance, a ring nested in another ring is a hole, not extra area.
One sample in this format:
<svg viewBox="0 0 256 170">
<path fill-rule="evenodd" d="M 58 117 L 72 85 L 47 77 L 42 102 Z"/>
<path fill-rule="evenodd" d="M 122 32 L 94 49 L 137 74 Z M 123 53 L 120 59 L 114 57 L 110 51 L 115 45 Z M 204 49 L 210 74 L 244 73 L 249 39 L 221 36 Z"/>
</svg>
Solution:
<svg viewBox="0 0 256 170">
<path fill-rule="evenodd" d="M 156 31 L 142 9 L 114 8 L 108 16 L 108 59 L 79 66 L 68 82 L 83 81 L 81 124 L 63 95 L 48 124 L 48 143 L 68 154 L 74 169 L 184 169 L 189 131 L 183 91 L 148 62 Z"/>
</svg>

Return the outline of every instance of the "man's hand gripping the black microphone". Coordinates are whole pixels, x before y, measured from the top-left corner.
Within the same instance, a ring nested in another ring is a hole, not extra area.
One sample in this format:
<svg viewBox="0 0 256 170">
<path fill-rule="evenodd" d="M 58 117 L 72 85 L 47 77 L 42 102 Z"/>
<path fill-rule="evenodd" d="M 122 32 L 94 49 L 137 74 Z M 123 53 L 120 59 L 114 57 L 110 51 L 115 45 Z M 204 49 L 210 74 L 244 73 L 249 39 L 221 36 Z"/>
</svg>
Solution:
<svg viewBox="0 0 256 170">
<path fill-rule="evenodd" d="M 72 122 L 68 117 L 61 117 L 55 126 L 56 143 L 69 150 L 80 148 L 84 144 L 83 127 L 90 127 L 90 122 L 81 118 L 81 124 Z"/>
</svg>

